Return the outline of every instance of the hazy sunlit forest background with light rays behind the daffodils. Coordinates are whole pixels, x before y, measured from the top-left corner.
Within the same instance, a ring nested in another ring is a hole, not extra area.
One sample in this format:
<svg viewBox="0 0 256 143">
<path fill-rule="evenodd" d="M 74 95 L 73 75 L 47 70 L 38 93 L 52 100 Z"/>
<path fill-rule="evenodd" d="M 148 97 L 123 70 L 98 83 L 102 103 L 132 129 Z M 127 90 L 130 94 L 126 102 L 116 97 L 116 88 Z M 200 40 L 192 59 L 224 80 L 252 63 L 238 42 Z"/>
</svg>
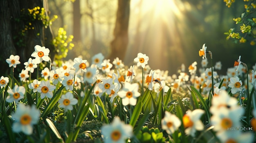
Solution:
<svg viewBox="0 0 256 143">
<path fill-rule="evenodd" d="M 233 18 L 244 11 L 242 0 L 235 2 L 230 8 L 223 0 L 43 2 L 48 4 L 50 18 L 58 15 L 51 25 L 53 36 L 58 35 L 60 27 L 65 29 L 66 35 L 74 36 L 74 48 L 65 59 L 81 55 L 90 62 L 93 55 L 102 53 L 111 62 L 119 56 L 130 66 L 134 64 L 133 59 L 137 57 L 137 53 L 144 53 L 149 57 L 148 64 L 152 69 L 168 70 L 173 74 L 181 64 L 185 64 L 186 69 L 194 61 L 200 65 L 202 57 L 199 57 L 198 51 L 206 43 L 207 50 L 213 53 L 213 64 L 222 62 L 222 70 L 218 72 L 220 74 L 226 74 L 227 68 L 234 65 L 239 55 L 249 69 L 256 63 L 255 46 L 251 46 L 249 42 L 235 44 L 232 40 L 226 40 L 227 35 L 224 35 L 229 29 L 236 27 Z M 120 10 L 122 15 L 118 14 Z M 117 17 L 125 26 L 124 29 L 119 29 L 119 34 Z M 116 45 L 118 52 L 113 52 L 111 47 L 118 37 L 124 38 L 119 39 L 123 43 Z M 34 51 L 34 46 L 31 49 Z"/>
</svg>

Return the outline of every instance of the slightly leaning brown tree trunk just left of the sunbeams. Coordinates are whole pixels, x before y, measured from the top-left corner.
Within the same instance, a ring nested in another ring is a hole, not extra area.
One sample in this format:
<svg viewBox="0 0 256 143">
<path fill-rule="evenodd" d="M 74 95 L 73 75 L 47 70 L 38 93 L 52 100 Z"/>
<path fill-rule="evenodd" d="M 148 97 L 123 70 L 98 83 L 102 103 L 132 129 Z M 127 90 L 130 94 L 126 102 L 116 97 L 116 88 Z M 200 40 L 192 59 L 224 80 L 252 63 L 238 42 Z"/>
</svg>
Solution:
<svg viewBox="0 0 256 143">
<path fill-rule="evenodd" d="M 130 0 L 118 0 L 117 20 L 114 29 L 114 40 L 110 43 L 109 59 L 119 57 L 124 60 L 128 46 L 128 25 L 130 16 Z"/>
</svg>

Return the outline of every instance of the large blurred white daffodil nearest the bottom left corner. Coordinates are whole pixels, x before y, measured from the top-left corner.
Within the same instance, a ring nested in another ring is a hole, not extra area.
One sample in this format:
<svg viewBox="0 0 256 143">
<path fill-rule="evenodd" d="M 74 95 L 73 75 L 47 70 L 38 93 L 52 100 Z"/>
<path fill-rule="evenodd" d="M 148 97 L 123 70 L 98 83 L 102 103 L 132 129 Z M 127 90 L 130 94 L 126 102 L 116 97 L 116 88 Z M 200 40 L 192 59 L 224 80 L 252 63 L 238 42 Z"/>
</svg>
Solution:
<svg viewBox="0 0 256 143">
<path fill-rule="evenodd" d="M 23 132 L 26 135 L 33 133 L 33 125 L 38 123 L 40 111 L 36 106 L 25 106 L 19 103 L 16 112 L 11 116 L 14 120 L 13 132 Z"/>
</svg>

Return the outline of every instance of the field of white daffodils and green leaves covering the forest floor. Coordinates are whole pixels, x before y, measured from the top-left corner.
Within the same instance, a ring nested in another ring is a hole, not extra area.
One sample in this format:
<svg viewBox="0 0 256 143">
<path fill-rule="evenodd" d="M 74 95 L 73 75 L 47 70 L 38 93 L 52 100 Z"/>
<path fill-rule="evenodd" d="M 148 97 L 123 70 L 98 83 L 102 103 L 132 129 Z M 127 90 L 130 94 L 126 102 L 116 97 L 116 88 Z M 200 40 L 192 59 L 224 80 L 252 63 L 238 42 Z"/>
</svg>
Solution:
<svg viewBox="0 0 256 143">
<path fill-rule="evenodd" d="M 219 75 L 221 62 L 203 44 L 200 64 L 168 75 L 143 53 L 124 65 L 101 53 L 55 62 L 47 47 L 34 49 L 25 63 L 19 55 L 4 63 L 11 73 L 0 75 L 1 143 L 256 141 L 256 65 L 241 56 Z M 24 69 L 14 75 L 17 65 Z"/>
</svg>

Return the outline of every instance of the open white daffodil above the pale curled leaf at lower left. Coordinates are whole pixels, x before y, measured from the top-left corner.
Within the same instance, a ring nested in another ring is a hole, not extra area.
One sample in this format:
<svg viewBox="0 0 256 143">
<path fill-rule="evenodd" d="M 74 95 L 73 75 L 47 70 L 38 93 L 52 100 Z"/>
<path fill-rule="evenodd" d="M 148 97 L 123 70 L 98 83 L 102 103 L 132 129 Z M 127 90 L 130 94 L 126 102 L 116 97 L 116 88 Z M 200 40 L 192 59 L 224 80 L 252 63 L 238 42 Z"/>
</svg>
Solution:
<svg viewBox="0 0 256 143">
<path fill-rule="evenodd" d="M 58 100 L 58 107 L 64 108 L 65 112 L 67 112 L 67 110 L 73 110 L 73 105 L 76 105 L 77 102 L 78 100 L 73 97 L 73 94 L 71 92 L 67 92 Z"/>
</svg>

